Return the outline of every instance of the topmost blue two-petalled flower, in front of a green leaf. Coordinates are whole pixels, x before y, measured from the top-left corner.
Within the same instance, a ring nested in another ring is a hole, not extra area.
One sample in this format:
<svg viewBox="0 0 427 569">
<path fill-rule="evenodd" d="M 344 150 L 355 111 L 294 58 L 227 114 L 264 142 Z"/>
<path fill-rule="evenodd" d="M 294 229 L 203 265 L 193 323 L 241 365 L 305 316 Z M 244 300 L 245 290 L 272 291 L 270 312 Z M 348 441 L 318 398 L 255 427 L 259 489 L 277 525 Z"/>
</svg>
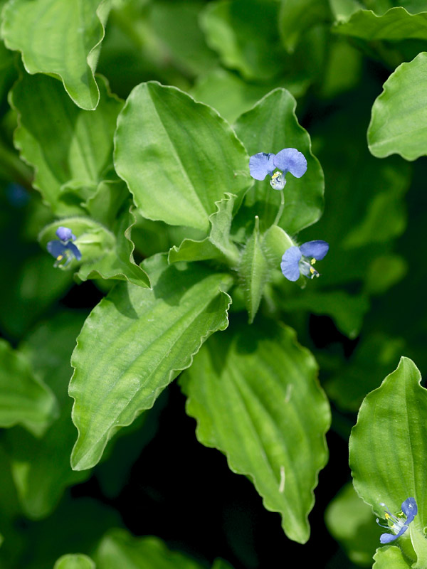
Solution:
<svg viewBox="0 0 427 569">
<path fill-rule="evenodd" d="M 281 171 L 273 174 L 276 168 Z M 286 174 L 290 172 L 295 178 L 300 178 L 307 171 L 307 160 L 296 148 L 284 148 L 278 154 L 258 152 L 249 159 L 249 171 L 255 180 L 263 180 L 265 176 L 273 174 L 270 180 L 271 187 L 283 190 Z"/>
</svg>

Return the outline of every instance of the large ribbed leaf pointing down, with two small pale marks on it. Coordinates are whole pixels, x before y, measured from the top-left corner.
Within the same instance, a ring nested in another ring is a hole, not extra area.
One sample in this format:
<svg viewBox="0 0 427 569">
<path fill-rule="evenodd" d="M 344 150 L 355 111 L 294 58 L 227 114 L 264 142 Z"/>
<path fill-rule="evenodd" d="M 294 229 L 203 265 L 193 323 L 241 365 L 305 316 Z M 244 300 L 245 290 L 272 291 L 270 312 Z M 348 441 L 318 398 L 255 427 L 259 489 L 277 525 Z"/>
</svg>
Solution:
<svg viewBox="0 0 427 569">
<path fill-rule="evenodd" d="M 216 334 L 181 378 L 196 435 L 246 474 L 288 537 L 305 543 L 317 473 L 327 462 L 330 408 L 295 331 L 273 321 Z"/>
</svg>

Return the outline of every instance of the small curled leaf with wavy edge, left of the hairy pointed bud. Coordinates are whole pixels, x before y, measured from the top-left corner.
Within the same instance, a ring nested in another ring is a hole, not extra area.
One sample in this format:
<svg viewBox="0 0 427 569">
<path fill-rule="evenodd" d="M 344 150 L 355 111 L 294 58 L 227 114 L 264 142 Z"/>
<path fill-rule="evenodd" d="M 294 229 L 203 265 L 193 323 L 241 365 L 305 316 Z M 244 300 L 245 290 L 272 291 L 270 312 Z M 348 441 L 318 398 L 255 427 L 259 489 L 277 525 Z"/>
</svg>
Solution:
<svg viewBox="0 0 427 569">
<path fill-rule="evenodd" d="M 239 251 L 236 244 L 230 240 L 235 200 L 236 196 L 226 193 L 221 201 L 216 202 L 218 211 L 209 217 L 211 223 L 209 237 L 201 241 L 184 239 L 179 247 L 174 246 L 169 251 L 169 262 L 216 259 L 236 267 Z"/>
</svg>

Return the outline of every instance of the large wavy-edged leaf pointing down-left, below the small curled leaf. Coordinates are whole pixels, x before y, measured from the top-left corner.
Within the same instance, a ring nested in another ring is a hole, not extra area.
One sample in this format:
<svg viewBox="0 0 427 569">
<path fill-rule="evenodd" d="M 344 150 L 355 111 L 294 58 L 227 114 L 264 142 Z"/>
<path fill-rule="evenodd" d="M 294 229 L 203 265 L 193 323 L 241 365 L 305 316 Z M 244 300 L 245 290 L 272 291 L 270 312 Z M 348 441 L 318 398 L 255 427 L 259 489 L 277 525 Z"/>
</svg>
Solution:
<svg viewBox="0 0 427 569">
<path fill-rule="evenodd" d="M 153 288 L 117 285 L 78 336 L 69 392 L 78 429 L 73 469 L 96 464 L 110 437 L 151 408 L 206 338 L 228 325 L 230 275 L 169 266 L 162 255 L 143 266 Z"/>
</svg>

